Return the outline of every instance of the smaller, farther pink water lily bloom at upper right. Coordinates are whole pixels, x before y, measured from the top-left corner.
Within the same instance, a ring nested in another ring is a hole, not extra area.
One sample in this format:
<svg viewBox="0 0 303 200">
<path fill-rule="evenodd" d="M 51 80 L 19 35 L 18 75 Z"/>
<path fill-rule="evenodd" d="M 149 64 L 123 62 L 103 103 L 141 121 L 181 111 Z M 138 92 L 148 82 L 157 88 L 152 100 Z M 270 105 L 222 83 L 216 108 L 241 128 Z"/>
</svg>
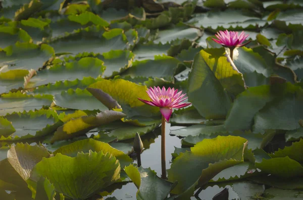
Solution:
<svg viewBox="0 0 303 200">
<path fill-rule="evenodd" d="M 219 31 L 215 34 L 218 39 L 212 38 L 215 42 L 223 45 L 224 47 L 241 47 L 248 44 L 250 41 L 242 44 L 244 40 L 248 37 L 248 34 L 245 35 L 244 31 L 238 34 L 236 31 Z"/>
</svg>

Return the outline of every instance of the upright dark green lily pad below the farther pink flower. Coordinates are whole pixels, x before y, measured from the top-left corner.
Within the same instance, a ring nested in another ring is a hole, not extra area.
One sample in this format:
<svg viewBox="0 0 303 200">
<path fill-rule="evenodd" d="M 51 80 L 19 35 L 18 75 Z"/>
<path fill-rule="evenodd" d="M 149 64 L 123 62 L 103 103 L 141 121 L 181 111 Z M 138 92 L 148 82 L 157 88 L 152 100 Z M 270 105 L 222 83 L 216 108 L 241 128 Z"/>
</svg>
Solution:
<svg viewBox="0 0 303 200">
<path fill-rule="evenodd" d="M 222 63 L 222 65 L 219 66 L 220 62 L 218 61 L 217 67 L 215 67 L 214 62 L 216 58 L 211 58 L 212 64 L 209 65 L 209 63 L 211 63 L 209 56 L 211 55 L 204 50 L 201 50 L 195 55 L 192 71 L 188 78 L 187 95 L 189 101 L 192 102 L 192 105 L 201 116 L 204 116 L 206 119 L 222 119 L 225 118 L 231 106 L 231 100 L 220 81 L 216 78 L 213 70 L 215 70 L 214 68 L 217 70 L 223 68 L 225 65 Z M 232 70 L 231 66 L 229 70 Z M 229 75 L 229 73 L 225 75 Z M 222 74 L 222 78 L 225 75 Z M 202 97 L 202 94 L 208 95 L 203 95 Z"/>
</svg>

